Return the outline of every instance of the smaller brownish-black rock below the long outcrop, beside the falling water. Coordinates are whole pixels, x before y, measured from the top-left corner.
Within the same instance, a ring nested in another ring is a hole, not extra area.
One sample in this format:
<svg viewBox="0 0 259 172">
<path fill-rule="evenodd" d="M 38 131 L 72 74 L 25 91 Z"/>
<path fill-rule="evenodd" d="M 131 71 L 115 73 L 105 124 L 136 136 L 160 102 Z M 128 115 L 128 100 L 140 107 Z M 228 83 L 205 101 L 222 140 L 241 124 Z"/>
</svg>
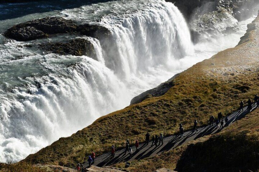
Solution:
<svg viewBox="0 0 259 172">
<path fill-rule="evenodd" d="M 96 59 L 96 53 L 94 51 L 93 44 L 86 39 L 75 38 L 64 43 L 48 43 L 40 45 L 40 47 L 51 53 L 57 53 L 61 55 L 71 54 L 75 56 L 86 55 L 88 57 Z"/>
</svg>

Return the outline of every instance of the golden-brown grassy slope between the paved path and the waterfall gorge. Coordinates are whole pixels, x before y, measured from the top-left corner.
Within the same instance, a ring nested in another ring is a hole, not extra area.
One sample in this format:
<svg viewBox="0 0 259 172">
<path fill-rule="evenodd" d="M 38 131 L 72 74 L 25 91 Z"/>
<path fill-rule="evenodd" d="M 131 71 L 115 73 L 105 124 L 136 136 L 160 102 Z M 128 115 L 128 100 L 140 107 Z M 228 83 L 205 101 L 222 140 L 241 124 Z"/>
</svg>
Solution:
<svg viewBox="0 0 259 172">
<path fill-rule="evenodd" d="M 258 25 L 257 18 L 254 23 Z M 51 163 L 71 167 L 92 150 L 105 151 L 111 144 L 122 146 L 126 139 L 143 141 L 145 132 L 158 134 L 185 128 L 196 118 L 202 125 L 211 114 L 237 108 L 240 100 L 253 97 L 259 90 L 258 29 L 247 35 L 249 41 L 222 51 L 182 72 L 161 97 L 151 97 L 97 119 L 92 125 L 60 138 L 52 145 L 29 155 L 28 163 Z M 245 39 L 244 38 L 244 39 Z M 253 49 L 253 51 L 250 51 Z"/>
</svg>

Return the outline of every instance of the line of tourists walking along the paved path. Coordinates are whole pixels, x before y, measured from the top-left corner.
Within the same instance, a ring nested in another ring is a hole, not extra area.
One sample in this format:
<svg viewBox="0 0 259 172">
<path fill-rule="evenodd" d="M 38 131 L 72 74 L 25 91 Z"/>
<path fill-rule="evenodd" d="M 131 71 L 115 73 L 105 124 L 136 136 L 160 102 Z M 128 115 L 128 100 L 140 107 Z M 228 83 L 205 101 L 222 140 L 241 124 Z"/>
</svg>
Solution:
<svg viewBox="0 0 259 172">
<path fill-rule="evenodd" d="M 247 103 L 247 110 L 251 110 L 252 109 L 252 101 L 250 100 L 250 98 L 248 99 L 248 101 L 246 102 Z M 254 104 L 257 103 L 257 107 L 259 106 L 259 97 L 255 94 L 254 96 Z M 239 112 L 242 110 L 243 111 L 243 106 L 244 106 L 244 102 L 241 101 L 240 104 L 239 104 Z M 225 124 L 228 123 L 228 116 L 225 117 L 225 120 L 223 121 L 222 119 L 223 115 L 222 113 L 218 113 L 217 115 L 217 119 L 215 119 L 215 117 L 213 115 L 210 116 L 209 120 L 208 120 L 208 125 L 210 126 L 213 126 L 214 125 L 214 122 L 216 123 L 216 127 L 217 128 L 223 128 L 223 125 L 224 125 L 224 121 L 225 121 Z M 193 129 L 192 129 L 192 132 L 195 132 L 195 131 L 198 131 L 197 129 L 197 125 L 198 125 L 198 121 L 195 119 L 194 120 L 194 125 L 193 125 Z M 219 126 L 220 124 L 220 126 Z M 179 124 L 179 133 L 180 133 L 180 137 L 184 137 L 184 128 L 183 128 L 183 125 L 180 123 Z M 145 143 L 143 146 L 147 146 L 149 141 L 150 141 L 150 134 L 149 132 L 146 133 L 145 135 Z M 163 139 L 164 139 L 164 136 L 162 133 L 160 133 L 160 135 L 152 135 L 152 138 L 151 138 L 151 147 L 152 146 L 159 146 L 160 144 L 163 145 Z M 158 144 L 159 143 L 159 144 Z M 135 142 L 135 147 L 136 147 L 136 151 L 139 151 L 138 147 L 139 147 L 140 143 L 138 140 L 136 140 Z M 115 157 L 115 150 L 116 150 L 116 147 L 114 145 L 111 146 L 111 158 L 114 158 Z M 130 141 L 127 139 L 126 140 L 126 147 L 125 147 L 125 151 L 124 151 L 124 154 L 126 153 L 129 153 L 130 156 L 132 155 L 132 148 L 130 147 Z M 94 163 L 94 159 L 95 159 L 95 152 L 92 152 L 91 156 L 88 156 L 88 163 L 89 163 L 89 167 Z M 83 163 L 86 163 L 86 157 L 84 157 L 83 159 Z M 84 166 L 83 166 L 83 163 L 80 164 L 78 163 L 77 164 L 77 170 L 84 170 Z"/>
</svg>

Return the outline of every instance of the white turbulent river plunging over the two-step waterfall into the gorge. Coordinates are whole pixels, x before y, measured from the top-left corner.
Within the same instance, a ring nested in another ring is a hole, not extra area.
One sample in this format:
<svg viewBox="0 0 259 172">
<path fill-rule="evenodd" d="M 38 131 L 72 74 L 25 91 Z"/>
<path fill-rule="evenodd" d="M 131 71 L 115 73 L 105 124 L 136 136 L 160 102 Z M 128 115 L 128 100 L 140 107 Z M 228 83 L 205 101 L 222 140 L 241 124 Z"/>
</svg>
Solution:
<svg viewBox="0 0 259 172">
<path fill-rule="evenodd" d="M 44 54 L 27 42 L 0 35 L 0 162 L 16 162 L 60 137 L 130 104 L 195 63 L 238 44 L 253 18 L 236 33 L 193 44 L 181 12 L 160 0 L 121 0 L 64 9 L 66 1 L 0 5 L 0 33 L 14 24 L 45 16 L 107 27 L 114 38 L 109 49 L 89 39 L 97 59 Z M 44 4 L 44 5 L 41 5 Z M 19 12 L 19 15 L 17 14 Z M 77 64 L 75 67 L 67 67 Z"/>
</svg>

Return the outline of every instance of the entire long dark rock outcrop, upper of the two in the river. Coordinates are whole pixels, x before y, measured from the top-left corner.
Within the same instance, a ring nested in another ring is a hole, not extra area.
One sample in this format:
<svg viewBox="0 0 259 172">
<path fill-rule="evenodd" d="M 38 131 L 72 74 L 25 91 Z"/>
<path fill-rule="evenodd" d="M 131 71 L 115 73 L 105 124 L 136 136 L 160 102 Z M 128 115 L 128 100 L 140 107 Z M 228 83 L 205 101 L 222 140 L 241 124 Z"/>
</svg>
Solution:
<svg viewBox="0 0 259 172">
<path fill-rule="evenodd" d="M 61 33 L 80 33 L 81 35 L 97 39 L 109 38 L 111 36 L 110 30 L 104 26 L 90 24 L 76 25 L 72 20 L 62 17 L 45 17 L 20 23 L 9 28 L 4 35 L 14 40 L 27 41 Z"/>
</svg>

